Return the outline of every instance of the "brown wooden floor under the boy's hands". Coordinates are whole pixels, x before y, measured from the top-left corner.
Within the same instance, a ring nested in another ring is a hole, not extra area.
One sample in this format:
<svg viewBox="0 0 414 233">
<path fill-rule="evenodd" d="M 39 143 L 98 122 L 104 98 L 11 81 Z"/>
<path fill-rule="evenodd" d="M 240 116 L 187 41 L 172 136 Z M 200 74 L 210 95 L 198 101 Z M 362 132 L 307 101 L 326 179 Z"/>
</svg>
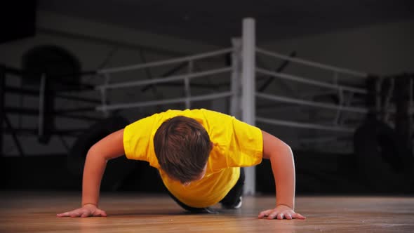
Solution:
<svg viewBox="0 0 414 233">
<path fill-rule="evenodd" d="M 307 220 L 262 220 L 274 197 L 192 215 L 167 196 L 102 194 L 107 218 L 56 218 L 79 201 L 79 193 L 0 192 L 0 232 L 414 232 L 414 197 L 298 197 L 296 211 Z"/>
</svg>

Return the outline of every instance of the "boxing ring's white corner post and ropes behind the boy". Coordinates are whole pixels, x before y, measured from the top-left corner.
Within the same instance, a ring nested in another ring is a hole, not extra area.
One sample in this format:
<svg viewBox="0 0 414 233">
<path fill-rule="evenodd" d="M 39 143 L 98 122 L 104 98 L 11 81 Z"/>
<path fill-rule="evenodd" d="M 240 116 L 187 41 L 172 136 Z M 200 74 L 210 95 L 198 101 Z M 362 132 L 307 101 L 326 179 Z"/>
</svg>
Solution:
<svg viewBox="0 0 414 233">
<path fill-rule="evenodd" d="M 232 62 L 229 66 L 218 67 L 206 71 L 194 72 L 194 64 L 199 60 L 206 58 L 214 58 L 217 56 L 231 56 Z M 256 56 L 265 56 L 271 59 L 288 60 L 300 65 L 322 69 L 333 74 L 333 82 L 318 81 L 309 77 L 296 76 L 292 74 L 284 74 L 282 72 L 274 72 L 269 69 L 263 69 L 256 65 Z M 187 74 L 178 74 L 167 77 L 156 77 L 154 79 L 139 80 L 139 81 L 116 81 L 116 74 L 128 72 L 131 70 L 147 69 L 150 67 L 163 67 L 166 65 L 173 65 L 185 62 L 187 63 Z M 125 67 L 114 67 L 109 69 L 100 69 L 98 74 L 102 76 L 102 84 L 95 87 L 95 90 L 100 91 L 101 104 L 95 109 L 109 114 L 110 111 L 119 109 L 131 109 L 136 107 L 148 107 L 155 105 L 171 105 L 176 103 L 185 104 L 185 108 L 192 108 L 192 103 L 201 100 L 220 100 L 229 102 L 229 109 L 226 112 L 241 119 L 248 124 L 255 125 L 256 122 L 270 125 L 282 125 L 295 128 L 312 128 L 321 131 L 342 131 L 345 133 L 354 132 L 354 127 L 345 126 L 343 121 L 340 121 L 340 116 L 343 112 L 352 112 L 361 114 L 363 116 L 368 112 L 366 107 L 354 107 L 351 105 L 352 98 L 355 94 L 366 95 L 367 91 L 363 88 L 356 88 L 353 86 L 346 86 L 339 84 L 339 77 L 344 74 L 353 76 L 356 79 L 366 79 L 368 74 L 363 72 L 356 72 L 350 69 L 341 67 L 334 67 L 331 65 L 324 65 L 318 62 L 312 62 L 300 58 L 291 58 L 287 55 L 266 51 L 255 46 L 255 21 L 251 18 L 243 20 L 243 32 L 241 39 L 232 39 L 232 47 L 225 48 L 218 51 L 208 53 L 201 53 L 197 55 L 190 55 L 182 58 L 174 58 L 171 60 L 161 60 L 156 62 L 148 62 L 145 64 L 128 65 Z M 338 94 L 339 104 L 330 104 L 326 102 L 316 102 L 305 99 L 290 98 L 282 95 L 274 95 L 269 93 L 262 93 L 256 90 L 256 76 L 264 74 L 271 76 L 273 79 L 283 79 L 295 83 L 306 84 L 309 86 L 316 86 L 321 88 L 328 88 Z M 227 75 L 230 76 L 229 88 L 225 91 L 213 91 L 212 93 L 203 95 L 192 94 L 190 81 L 194 79 L 206 79 L 211 76 Z M 171 82 L 182 82 L 182 89 L 184 96 L 180 98 L 169 98 L 166 100 L 149 100 L 138 102 L 121 102 L 108 103 L 108 92 L 115 89 L 122 88 L 138 88 L 140 86 L 149 86 L 157 84 L 167 84 Z M 335 117 L 330 124 L 313 124 L 309 122 L 286 121 L 281 119 L 274 119 L 264 117 L 256 114 L 256 103 L 261 100 L 272 100 L 275 102 L 284 102 L 295 105 L 304 105 L 307 107 L 315 107 L 322 109 L 330 109 L 335 111 Z M 254 194 L 255 192 L 255 170 L 253 168 L 246 169 L 246 194 Z"/>
</svg>

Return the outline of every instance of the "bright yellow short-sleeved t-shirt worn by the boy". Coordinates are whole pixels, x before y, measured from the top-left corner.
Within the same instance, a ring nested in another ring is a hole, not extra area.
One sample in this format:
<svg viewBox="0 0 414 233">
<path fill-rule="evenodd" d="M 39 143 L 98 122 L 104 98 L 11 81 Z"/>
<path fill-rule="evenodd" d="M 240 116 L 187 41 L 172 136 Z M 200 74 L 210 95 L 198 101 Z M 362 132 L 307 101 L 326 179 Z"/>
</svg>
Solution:
<svg viewBox="0 0 414 233">
<path fill-rule="evenodd" d="M 188 186 L 168 178 L 162 171 L 154 152 L 154 135 L 163 121 L 174 116 L 187 116 L 198 121 L 210 136 L 213 149 L 208 157 L 206 175 Z M 159 169 L 167 189 L 187 206 L 207 207 L 217 204 L 239 179 L 243 166 L 262 161 L 262 131 L 233 116 L 206 109 L 168 110 L 148 116 L 126 126 L 123 147 L 128 159 L 148 161 Z"/>
</svg>

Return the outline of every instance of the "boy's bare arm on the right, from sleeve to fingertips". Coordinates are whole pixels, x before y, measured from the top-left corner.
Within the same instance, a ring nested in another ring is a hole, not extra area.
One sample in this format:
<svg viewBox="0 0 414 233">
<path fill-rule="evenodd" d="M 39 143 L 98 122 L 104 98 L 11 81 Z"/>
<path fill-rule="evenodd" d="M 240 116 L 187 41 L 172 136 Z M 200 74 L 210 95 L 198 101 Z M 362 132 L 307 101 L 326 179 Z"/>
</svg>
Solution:
<svg viewBox="0 0 414 233">
<path fill-rule="evenodd" d="M 263 158 L 270 159 L 276 182 L 276 208 L 262 211 L 259 218 L 305 219 L 295 213 L 295 163 L 291 147 L 278 138 L 262 131 Z"/>
</svg>

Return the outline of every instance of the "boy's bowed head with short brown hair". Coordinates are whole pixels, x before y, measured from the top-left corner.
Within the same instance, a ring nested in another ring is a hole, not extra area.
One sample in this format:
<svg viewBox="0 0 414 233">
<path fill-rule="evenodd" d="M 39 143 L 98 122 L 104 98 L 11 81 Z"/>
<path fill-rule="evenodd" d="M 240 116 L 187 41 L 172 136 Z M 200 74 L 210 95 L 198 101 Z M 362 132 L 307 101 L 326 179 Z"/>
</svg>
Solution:
<svg viewBox="0 0 414 233">
<path fill-rule="evenodd" d="M 164 121 L 156 131 L 154 150 L 163 171 L 185 184 L 198 180 L 203 174 L 211 141 L 199 122 L 175 116 Z"/>
</svg>

